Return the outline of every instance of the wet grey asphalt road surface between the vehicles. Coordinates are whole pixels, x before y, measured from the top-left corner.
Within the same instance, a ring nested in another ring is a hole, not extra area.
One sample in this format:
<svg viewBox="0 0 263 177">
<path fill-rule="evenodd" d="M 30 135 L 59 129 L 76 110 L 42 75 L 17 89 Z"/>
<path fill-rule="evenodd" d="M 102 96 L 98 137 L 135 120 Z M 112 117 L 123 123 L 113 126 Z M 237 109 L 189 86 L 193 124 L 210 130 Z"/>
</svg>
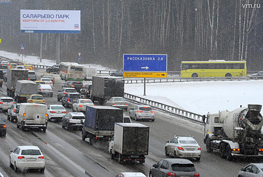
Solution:
<svg viewBox="0 0 263 177">
<path fill-rule="evenodd" d="M 38 78 L 44 72 L 40 69 L 36 71 Z M 61 104 L 57 101 L 57 91 L 63 82 L 56 75 L 53 98 L 45 97 L 47 104 Z M 5 96 L 5 91 L 6 87 L 3 86 L 0 89 L 0 96 Z M 131 105 L 133 104 L 129 103 L 129 108 Z M 71 108 L 67 108 L 67 111 L 71 111 Z M 128 113 L 126 112 L 126 114 Z M 6 115 L 0 113 L 0 116 L 6 120 Z M 85 142 L 81 140 L 80 131 L 69 132 L 63 129 L 58 122 L 49 122 L 45 134 L 38 130 L 22 131 L 16 128 L 15 123 L 6 121 L 8 134 L 6 138 L 0 139 L 1 142 L 2 140 L 5 142 L 0 145 L 0 156 L 4 157 L 0 159 L 1 167 L 10 176 L 89 176 L 89 174 L 92 176 L 114 176 L 120 171 L 140 171 L 149 174 L 150 166 L 157 163 L 159 159 L 166 158 L 164 155 L 165 142 L 170 140 L 173 135 L 195 137 L 202 148 L 202 155 L 200 162 L 193 162 L 201 176 L 236 176 L 241 167 L 250 163 L 250 161 L 229 162 L 226 159 L 221 159 L 216 153 L 207 153 L 203 144 L 203 132 L 198 128 L 172 122 L 167 119 L 167 114 L 159 111 L 155 111 L 155 117 L 155 122 L 140 122 L 150 126 L 149 155 L 144 164 L 118 164 L 116 160 L 110 159 L 106 142 L 91 146 L 88 139 Z M 34 173 L 33 171 L 26 174 L 16 174 L 9 167 L 9 151 L 18 145 L 27 143 L 39 146 L 43 150 L 47 163 L 45 174 Z"/>
</svg>

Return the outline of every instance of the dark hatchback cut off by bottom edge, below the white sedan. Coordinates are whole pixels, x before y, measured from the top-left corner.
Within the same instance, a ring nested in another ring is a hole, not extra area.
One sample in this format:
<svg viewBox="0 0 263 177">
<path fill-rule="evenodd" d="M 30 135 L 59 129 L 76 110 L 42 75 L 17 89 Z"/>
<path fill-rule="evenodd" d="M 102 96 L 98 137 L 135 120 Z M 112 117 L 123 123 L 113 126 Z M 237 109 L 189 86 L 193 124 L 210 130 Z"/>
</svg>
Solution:
<svg viewBox="0 0 263 177">
<path fill-rule="evenodd" d="M 189 176 L 198 177 L 195 165 L 188 159 L 161 159 L 150 168 L 151 177 L 159 176 Z"/>
</svg>

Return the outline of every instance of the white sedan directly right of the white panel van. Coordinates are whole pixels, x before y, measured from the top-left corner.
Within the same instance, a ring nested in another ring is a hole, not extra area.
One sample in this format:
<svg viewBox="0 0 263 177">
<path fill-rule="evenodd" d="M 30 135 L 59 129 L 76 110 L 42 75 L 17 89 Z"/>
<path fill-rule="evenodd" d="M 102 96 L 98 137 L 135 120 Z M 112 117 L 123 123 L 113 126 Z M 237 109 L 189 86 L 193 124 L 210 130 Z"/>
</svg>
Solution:
<svg viewBox="0 0 263 177">
<path fill-rule="evenodd" d="M 63 116 L 67 113 L 66 109 L 62 105 L 49 105 L 48 106 L 48 115 L 49 120 L 61 121 Z"/>
</svg>

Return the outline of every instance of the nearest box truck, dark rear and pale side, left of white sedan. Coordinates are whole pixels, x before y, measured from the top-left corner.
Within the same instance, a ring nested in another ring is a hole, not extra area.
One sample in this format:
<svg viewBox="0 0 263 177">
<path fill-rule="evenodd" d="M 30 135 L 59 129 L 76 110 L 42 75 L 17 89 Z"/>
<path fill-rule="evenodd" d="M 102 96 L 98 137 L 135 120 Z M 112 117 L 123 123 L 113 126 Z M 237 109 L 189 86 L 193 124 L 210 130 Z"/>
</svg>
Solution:
<svg viewBox="0 0 263 177">
<path fill-rule="evenodd" d="M 145 162 L 149 150 L 149 126 L 141 123 L 115 123 L 109 153 L 118 162 Z"/>
</svg>

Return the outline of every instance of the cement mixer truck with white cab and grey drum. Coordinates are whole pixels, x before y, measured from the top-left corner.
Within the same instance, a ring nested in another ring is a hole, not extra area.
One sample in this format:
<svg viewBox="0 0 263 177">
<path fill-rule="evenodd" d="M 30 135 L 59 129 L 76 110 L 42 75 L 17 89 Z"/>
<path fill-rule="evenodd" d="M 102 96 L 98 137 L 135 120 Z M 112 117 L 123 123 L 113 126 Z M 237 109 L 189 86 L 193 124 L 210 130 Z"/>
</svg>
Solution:
<svg viewBox="0 0 263 177">
<path fill-rule="evenodd" d="M 263 157 L 261 105 L 203 116 L 206 151 L 219 151 L 221 158 Z"/>
</svg>

